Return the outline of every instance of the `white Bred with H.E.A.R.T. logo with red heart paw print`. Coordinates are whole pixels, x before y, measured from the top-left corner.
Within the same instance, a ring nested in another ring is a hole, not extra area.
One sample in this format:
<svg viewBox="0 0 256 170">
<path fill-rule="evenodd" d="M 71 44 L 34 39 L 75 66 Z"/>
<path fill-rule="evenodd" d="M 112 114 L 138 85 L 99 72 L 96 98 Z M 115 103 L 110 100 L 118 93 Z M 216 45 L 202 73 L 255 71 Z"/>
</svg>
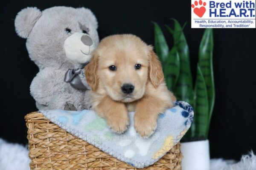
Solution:
<svg viewBox="0 0 256 170">
<path fill-rule="evenodd" d="M 192 0 L 191 28 L 255 28 L 255 0 Z"/>
</svg>

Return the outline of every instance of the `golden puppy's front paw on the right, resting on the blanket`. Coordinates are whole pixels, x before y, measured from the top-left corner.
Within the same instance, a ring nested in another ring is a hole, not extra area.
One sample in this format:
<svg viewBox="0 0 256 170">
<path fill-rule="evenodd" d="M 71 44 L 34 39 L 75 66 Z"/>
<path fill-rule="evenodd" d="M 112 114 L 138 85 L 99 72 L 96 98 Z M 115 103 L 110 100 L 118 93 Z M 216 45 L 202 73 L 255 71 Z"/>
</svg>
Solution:
<svg viewBox="0 0 256 170">
<path fill-rule="evenodd" d="M 134 116 L 134 128 L 142 138 L 151 136 L 157 128 L 157 119 L 154 116 Z"/>
</svg>

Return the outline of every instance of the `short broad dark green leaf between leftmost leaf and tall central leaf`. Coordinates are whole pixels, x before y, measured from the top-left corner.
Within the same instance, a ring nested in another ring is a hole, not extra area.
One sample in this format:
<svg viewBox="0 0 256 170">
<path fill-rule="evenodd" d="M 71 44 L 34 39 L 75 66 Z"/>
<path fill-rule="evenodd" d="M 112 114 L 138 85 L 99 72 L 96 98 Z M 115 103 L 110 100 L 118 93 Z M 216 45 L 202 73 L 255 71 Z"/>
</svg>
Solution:
<svg viewBox="0 0 256 170">
<path fill-rule="evenodd" d="M 166 85 L 170 91 L 175 91 L 175 85 L 180 74 L 180 57 L 177 47 L 173 46 L 169 51 L 168 58 L 164 66 L 164 77 Z"/>
</svg>

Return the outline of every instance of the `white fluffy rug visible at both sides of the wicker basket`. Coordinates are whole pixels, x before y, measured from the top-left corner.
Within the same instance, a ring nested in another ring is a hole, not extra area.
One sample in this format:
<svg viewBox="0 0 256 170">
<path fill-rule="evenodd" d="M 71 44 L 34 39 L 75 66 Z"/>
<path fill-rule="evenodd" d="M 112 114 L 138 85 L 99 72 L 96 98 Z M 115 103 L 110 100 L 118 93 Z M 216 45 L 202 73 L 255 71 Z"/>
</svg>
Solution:
<svg viewBox="0 0 256 170">
<path fill-rule="evenodd" d="M 0 139 L 0 170 L 30 170 L 26 146 L 11 144 Z M 211 170 L 256 170 L 256 156 L 251 151 L 241 161 L 211 159 Z"/>
</svg>

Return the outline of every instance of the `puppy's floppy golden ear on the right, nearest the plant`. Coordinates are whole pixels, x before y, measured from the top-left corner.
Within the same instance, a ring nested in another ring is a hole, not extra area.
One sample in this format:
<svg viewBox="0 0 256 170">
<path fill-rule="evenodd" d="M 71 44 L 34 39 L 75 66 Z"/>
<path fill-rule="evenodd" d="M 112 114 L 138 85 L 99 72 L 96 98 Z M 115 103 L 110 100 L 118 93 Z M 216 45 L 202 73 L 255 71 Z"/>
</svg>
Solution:
<svg viewBox="0 0 256 170">
<path fill-rule="evenodd" d="M 157 88 L 164 80 L 163 69 L 157 54 L 153 51 L 152 46 L 149 46 L 149 48 L 149 79 L 154 85 L 154 88 Z"/>
</svg>

